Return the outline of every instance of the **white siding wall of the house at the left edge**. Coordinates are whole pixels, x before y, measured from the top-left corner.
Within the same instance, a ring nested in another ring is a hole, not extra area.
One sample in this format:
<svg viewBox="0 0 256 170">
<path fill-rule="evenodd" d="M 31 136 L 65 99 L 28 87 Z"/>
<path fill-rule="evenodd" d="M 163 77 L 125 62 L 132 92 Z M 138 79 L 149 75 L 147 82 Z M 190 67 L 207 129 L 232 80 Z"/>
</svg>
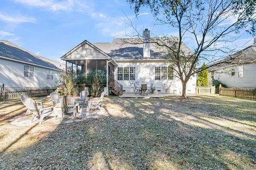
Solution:
<svg viewBox="0 0 256 170">
<path fill-rule="evenodd" d="M 5 84 L 6 87 L 55 87 L 61 80 L 60 75 L 64 74 L 53 70 L 53 80 L 47 80 L 47 69 L 34 66 L 34 78 L 27 78 L 23 76 L 23 65 L 29 64 L 0 58 L 0 84 Z"/>
</svg>

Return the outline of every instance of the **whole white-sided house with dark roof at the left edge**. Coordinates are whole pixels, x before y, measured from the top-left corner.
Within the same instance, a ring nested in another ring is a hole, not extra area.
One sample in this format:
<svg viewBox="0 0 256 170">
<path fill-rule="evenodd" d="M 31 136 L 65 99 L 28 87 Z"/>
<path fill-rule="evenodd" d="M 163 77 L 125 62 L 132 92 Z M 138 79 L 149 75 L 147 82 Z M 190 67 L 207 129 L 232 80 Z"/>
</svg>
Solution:
<svg viewBox="0 0 256 170">
<path fill-rule="evenodd" d="M 0 40 L 0 84 L 5 87 L 55 87 L 65 65 Z"/>
</svg>

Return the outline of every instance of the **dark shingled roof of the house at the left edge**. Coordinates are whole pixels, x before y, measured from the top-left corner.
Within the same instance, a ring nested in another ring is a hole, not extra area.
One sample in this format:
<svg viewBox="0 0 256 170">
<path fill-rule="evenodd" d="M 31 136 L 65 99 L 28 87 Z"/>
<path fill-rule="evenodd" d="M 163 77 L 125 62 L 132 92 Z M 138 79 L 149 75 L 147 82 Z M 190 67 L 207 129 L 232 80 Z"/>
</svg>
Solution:
<svg viewBox="0 0 256 170">
<path fill-rule="evenodd" d="M 59 71 L 63 71 L 63 68 L 65 68 L 63 64 L 28 52 L 26 49 L 6 40 L 0 40 L 0 56 L 6 60 L 28 63 Z"/>
</svg>

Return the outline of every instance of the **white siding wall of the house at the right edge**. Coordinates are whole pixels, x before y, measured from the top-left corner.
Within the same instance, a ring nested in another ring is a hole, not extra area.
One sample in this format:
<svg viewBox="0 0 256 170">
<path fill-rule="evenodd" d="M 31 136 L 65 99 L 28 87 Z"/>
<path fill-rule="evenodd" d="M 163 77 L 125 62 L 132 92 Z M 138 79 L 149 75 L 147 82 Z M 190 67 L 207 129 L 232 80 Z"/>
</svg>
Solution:
<svg viewBox="0 0 256 170">
<path fill-rule="evenodd" d="M 240 65 L 241 66 L 241 65 Z M 239 65 L 225 67 L 214 71 L 214 79 L 227 84 L 228 87 L 256 87 L 256 64 L 245 64 L 244 77 L 238 77 Z M 231 76 L 231 68 L 235 67 L 235 75 Z M 209 78 L 211 72 L 209 71 Z"/>
</svg>

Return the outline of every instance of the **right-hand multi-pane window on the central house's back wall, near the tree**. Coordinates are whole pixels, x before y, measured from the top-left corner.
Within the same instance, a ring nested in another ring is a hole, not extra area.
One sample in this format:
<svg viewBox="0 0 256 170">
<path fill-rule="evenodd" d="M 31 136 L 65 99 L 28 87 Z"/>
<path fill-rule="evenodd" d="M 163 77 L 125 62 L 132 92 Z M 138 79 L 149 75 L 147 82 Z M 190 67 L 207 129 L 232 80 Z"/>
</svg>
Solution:
<svg viewBox="0 0 256 170">
<path fill-rule="evenodd" d="M 155 67 L 155 80 L 173 80 L 173 69 L 171 67 L 162 66 Z"/>
</svg>

